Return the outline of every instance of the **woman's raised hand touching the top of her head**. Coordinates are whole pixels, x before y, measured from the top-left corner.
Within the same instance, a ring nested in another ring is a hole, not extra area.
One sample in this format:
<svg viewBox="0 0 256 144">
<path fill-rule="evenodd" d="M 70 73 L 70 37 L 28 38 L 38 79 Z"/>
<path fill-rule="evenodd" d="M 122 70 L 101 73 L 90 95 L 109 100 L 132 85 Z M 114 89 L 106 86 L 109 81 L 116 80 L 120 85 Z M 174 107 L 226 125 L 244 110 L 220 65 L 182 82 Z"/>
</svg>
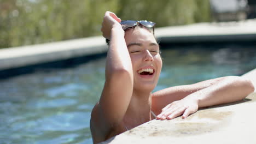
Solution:
<svg viewBox="0 0 256 144">
<path fill-rule="evenodd" d="M 117 17 L 114 13 L 110 11 L 106 11 L 102 25 L 101 25 L 101 32 L 104 38 L 110 39 L 110 32 L 111 29 L 115 26 L 120 27 L 122 29 L 120 23 L 121 19 Z"/>
</svg>

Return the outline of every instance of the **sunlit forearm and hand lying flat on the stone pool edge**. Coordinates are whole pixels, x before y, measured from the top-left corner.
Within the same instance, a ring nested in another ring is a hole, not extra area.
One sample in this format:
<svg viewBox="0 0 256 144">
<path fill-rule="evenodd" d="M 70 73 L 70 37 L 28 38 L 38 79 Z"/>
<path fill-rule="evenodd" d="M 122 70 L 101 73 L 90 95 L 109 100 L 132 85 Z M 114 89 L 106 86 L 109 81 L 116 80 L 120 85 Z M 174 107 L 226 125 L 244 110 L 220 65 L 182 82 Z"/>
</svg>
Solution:
<svg viewBox="0 0 256 144">
<path fill-rule="evenodd" d="M 173 101 L 163 109 L 156 109 L 155 111 L 160 113 L 156 118 L 164 120 L 166 118 L 172 119 L 180 115 L 182 115 L 182 118 L 186 118 L 191 113 L 196 112 L 199 107 L 242 100 L 253 91 L 254 87 L 249 80 L 238 76 L 222 77 L 218 79 L 216 83 L 191 93 L 181 100 Z"/>
</svg>

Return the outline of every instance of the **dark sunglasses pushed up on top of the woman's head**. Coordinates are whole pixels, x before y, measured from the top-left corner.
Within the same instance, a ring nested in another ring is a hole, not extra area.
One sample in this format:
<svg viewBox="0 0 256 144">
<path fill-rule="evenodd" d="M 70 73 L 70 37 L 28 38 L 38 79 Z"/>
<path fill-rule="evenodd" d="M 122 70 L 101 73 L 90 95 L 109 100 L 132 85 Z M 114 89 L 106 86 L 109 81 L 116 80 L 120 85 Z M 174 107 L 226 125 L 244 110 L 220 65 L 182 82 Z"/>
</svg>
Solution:
<svg viewBox="0 0 256 144">
<path fill-rule="evenodd" d="M 135 27 L 135 26 L 142 26 L 142 27 L 146 27 L 148 29 L 153 29 L 153 34 L 154 34 L 154 26 L 155 26 L 155 22 L 152 21 L 133 21 L 133 20 L 125 20 L 125 21 L 121 21 L 120 22 L 122 28 L 124 29 L 124 31 L 128 28 L 131 27 Z"/>
</svg>

